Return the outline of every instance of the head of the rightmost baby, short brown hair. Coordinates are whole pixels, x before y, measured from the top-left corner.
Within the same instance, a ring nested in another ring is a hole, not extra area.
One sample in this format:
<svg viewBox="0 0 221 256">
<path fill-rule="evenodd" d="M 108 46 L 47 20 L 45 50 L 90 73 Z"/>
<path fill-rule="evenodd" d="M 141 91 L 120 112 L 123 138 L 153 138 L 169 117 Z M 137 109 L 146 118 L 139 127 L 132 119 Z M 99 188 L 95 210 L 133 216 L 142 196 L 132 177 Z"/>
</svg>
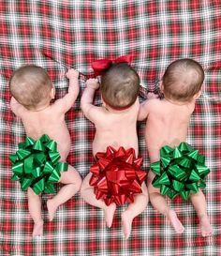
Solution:
<svg viewBox="0 0 221 256">
<path fill-rule="evenodd" d="M 198 62 L 180 59 L 172 62 L 166 69 L 162 90 L 165 98 L 188 102 L 200 95 L 203 81 L 204 71 Z"/>
</svg>

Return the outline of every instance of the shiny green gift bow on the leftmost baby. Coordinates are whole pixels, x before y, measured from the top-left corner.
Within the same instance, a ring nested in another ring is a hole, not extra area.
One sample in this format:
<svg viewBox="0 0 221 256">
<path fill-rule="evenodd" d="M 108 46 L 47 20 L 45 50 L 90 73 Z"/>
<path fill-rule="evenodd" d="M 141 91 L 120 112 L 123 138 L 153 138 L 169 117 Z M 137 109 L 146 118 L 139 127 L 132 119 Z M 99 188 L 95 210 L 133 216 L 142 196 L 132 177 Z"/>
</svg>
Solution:
<svg viewBox="0 0 221 256">
<path fill-rule="evenodd" d="M 58 182 L 61 172 L 66 172 L 68 164 L 58 162 L 57 143 L 46 134 L 37 141 L 26 137 L 19 143 L 19 150 L 9 156 L 12 162 L 11 180 L 19 180 L 22 190 L 31 187 L 38 195 L 41 192 L 54 193 L 54 183 Z"/>
</svg>

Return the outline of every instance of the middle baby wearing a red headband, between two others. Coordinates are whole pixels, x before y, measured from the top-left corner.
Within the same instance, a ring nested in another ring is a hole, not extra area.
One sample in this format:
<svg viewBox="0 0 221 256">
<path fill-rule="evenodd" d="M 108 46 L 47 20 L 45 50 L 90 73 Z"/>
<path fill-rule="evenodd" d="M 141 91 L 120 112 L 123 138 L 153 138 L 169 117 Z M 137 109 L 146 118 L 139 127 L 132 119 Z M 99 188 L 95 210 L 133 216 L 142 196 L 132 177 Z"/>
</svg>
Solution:
<svg viewBox="0 0 221 256">
<path fill-rule="evenodd" d="M 139 113 L 140 79 L 133 68 L 126 63 L 115 63 L 101 74 L 102 107 L 93 105 L 93 98 L 99 83 L 89 79 L 81 97 L 81 110 L 95 124 L 96 135 L 93 141 L 93 155 L 105 152 L 108 146 L 115 149 L 123 146 L 133 148 L 136 157 L 139 154 L 137 136 L 137 117 Z M 109 206 L 103 200 L 96 199 L 94 188 L 89 181 L 92 173 L 87 174 L 81 186 L 81 196 L 87 202 L 104 210 L 108 227 L 111 227 L 116 203 Z M 130 203 L 122 213 L 122 225 L 125 238 L 129 237 L 133 218 L 138 216 L 147 206 L 148 195 L 144 182 L 142 193 L 135 195 L 134 203 Z"/>
</svg>

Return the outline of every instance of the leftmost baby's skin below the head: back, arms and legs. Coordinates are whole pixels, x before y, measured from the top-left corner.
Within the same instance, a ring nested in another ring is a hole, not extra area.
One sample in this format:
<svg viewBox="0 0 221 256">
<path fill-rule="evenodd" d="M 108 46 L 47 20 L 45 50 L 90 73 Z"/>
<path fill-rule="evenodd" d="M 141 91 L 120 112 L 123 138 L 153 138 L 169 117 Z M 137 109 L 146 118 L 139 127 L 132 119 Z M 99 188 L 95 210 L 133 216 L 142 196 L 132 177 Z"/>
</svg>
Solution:
<svg viewBox="0 0 221 256">
<path fill-rule="evenodd" d="M 24 108 L 15 98 L 11 98 L 10 106 L 13 113 L 22 119 L 26 135 L 37 140 L 43 134 L 50 136 L 57 143 L 57 150 L 61 155 L 59 161 L 66 161 L 70 151 L 70 135 L 66 127 L 65 113 L 73 106 L 79 95 L 79 72 L 69 69 L 66 77 L 69 79 L 68 93 L 64 98 L 57 99 L 51 104 L 54 98 L 54 88 L 44 104 L 39 108 L 30 111 Z M 56 209 L 62 203 L 66 203 L 81 188 L 81 176 L 70 165 L 67 172 L 61 173 L 60 183 L 66 184 L 59 192 L 47 202 L 49 219 L 52 221 Z M 41 198 L 32 188 L 28 188 L 28 207 L 35 224 L 33 236 L 42 235 L 43 219 L 41 217 Z"/>
</svg>

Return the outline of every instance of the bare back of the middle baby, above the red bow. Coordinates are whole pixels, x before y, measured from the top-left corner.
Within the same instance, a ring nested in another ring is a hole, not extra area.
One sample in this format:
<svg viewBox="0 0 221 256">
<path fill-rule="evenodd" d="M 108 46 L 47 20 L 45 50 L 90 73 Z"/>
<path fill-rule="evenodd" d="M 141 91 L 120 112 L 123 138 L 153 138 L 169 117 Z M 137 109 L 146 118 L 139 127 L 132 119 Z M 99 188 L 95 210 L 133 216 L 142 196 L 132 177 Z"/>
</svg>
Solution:
<svg viewBox="0 0 221 256">
<path fill-rule="evenodd" d="M 96 135 L 93 142 L 93 154 L 106 151 L 111 145 L 115 149 L 120 146 L 133 147 L 138 155 L 137 116 L 139 113 L 139 101 L 125 111 L 109 111 L 104 107 L 97 108 L 95 122 Z"/>
</svg>

